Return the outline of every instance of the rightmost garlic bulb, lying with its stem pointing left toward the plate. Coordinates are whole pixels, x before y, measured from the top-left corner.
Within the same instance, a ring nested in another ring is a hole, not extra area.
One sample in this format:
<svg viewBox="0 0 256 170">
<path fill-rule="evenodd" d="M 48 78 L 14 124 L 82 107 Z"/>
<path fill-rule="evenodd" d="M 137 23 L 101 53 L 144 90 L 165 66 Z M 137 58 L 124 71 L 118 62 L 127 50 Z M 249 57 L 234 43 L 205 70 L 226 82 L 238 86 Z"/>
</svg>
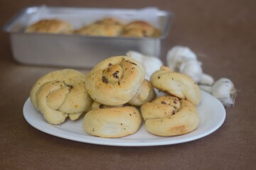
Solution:
<svg viewBox="0 0 256 170">
<path fill-rule="evenodd" d="M 227 108 L 235 105 L 237 90 L 230 79 L 221 78 L 215 81 L 213 86 L 200 85 L 199 88 L 218 98 Z"/>
</svg>

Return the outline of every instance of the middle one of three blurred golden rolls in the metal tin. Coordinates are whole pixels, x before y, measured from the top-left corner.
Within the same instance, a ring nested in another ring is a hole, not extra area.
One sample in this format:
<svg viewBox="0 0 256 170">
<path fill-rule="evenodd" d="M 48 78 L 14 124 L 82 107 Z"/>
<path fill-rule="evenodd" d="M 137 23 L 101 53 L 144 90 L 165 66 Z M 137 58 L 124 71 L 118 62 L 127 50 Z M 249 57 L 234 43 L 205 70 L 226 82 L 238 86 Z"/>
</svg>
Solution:
<svg viewBox="0 0 256 170">
<path fill-rule="evenodd" d="M 123 26 L 123 23 L 114 18 L 104 18 L 75 30 L 75 33 L 83 35 L 117 36 L 122 32 Z"/>
</svg>

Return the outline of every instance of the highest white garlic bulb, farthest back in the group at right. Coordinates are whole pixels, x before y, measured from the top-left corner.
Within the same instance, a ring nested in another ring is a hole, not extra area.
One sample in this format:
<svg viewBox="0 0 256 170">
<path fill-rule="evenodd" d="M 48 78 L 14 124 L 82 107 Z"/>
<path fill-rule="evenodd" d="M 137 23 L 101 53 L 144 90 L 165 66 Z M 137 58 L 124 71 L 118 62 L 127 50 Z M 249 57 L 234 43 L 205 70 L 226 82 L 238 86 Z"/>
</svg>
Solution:
<svg viewBox="0 0 256 170">
<path fill-rule="evenodd" d="M 188 47 L 176 45 L 168 51 L 167 65 L 176 72 L 179 72 L 179 67 L 181 63 L 185 60 L 197 60 L 196 54 L 190 50 Z"/>
</svg>

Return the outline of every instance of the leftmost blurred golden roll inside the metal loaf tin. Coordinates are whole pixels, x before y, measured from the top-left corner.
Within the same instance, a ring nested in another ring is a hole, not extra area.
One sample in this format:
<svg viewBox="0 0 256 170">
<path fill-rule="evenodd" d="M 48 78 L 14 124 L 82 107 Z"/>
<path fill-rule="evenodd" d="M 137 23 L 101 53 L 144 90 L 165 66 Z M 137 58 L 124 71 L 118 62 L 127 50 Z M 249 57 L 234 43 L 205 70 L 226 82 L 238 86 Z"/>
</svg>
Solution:
<svg viewBox="0 0 256 170">
<path fill-rule="evenodd" d="M 72 33 L 73 26 L 58 19 L 43 19 L 26 28 L 26 33 Z"/>
</svg>

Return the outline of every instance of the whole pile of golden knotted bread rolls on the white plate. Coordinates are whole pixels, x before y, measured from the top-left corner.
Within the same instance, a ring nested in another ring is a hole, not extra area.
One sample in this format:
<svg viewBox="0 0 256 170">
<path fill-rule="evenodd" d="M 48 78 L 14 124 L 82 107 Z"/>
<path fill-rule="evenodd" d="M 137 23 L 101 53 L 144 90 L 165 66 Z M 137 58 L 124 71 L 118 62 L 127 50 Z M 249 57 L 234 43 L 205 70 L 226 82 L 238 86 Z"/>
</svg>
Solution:
<svg viewBox="0 0 256 170">
<path fill-rule="evenodd" d="M 155 90 L 164 95 L 156 96 Z M 31 102 L 48 123 L 77 120 L 97 137 L 124 137 L 142 123 L 159 136 L 183 135 L 199 124 L 198 85 L 186 75 L 161 67 L 145 79 L 144 67 L 127 56 L 109 57 L 88 74 L 73 69 L 50 72 L 36 81 Z"/>
</svg>

